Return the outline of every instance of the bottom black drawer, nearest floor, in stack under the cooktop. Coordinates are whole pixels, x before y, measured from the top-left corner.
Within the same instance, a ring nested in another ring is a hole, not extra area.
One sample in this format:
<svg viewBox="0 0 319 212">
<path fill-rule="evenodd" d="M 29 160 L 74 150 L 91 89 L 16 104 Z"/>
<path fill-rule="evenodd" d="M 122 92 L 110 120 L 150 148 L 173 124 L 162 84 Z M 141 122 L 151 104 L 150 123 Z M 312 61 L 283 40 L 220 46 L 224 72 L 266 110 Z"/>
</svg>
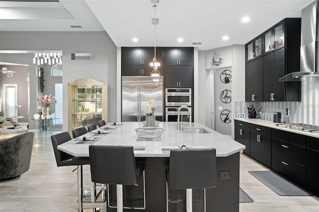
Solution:
<svg viewBox="0 0 319 212">
<path fill-rule="evenodd" d="M 273 154 L 271 167 L 290 180 L 300 184 L 301 186 L 306 186 L 305 166 L 299 165 L 287 158 Z"/>
</svg>

